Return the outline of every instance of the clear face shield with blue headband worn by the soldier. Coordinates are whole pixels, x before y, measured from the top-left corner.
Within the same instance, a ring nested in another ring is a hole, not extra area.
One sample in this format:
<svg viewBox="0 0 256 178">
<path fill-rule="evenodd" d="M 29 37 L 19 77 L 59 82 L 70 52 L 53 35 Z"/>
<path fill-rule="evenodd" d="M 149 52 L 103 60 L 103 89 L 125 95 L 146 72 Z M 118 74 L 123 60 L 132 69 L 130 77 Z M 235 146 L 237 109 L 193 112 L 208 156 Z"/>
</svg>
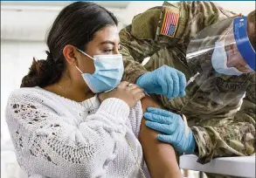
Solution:
<svg viewBox="0 0 256 178">
<path fill-rule="evenodd" d="M 218 104 L 240 98 L 246 91 L 246 84 L 241 81 L 239 89 L 234 87 L 233 92 L 227 95 L 227 91 L 218 85 L 218 77 L 236 78 L 255 71 L 256 54 L 246 28 L 246 17 L 228 18 L 204 28 L 188 46 L 186 60 L 191 74 L 200 73 L 195 79 L 197 85 L 202 91 L 209 91 L 209 98 Z"/>
</svg>

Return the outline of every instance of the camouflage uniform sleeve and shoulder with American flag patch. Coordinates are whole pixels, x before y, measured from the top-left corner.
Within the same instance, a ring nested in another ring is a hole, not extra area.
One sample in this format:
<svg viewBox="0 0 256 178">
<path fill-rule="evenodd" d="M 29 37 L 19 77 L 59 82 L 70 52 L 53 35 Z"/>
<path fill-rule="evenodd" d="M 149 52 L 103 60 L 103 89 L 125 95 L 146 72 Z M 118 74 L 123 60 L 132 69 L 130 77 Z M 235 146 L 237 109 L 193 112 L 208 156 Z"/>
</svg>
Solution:
<svg viewBox="0 0 256 178">
<path fill-rule="evenodd" d="M 172 16 L 176 14 L 173 17 L 177 19 L 170 31 L 164 31 L 169 12 Z M 135 83 L 140 75 L 147 72 L 141 65 L 144 58 L 165 47 L 188 45 L 198 30 L 231 14 L 211 2 L 164 2 L 162 7 L 154 7 L 135 16 L 132 24 L 120 31 L 125 67 L 123 80 Z"/>
</svg>

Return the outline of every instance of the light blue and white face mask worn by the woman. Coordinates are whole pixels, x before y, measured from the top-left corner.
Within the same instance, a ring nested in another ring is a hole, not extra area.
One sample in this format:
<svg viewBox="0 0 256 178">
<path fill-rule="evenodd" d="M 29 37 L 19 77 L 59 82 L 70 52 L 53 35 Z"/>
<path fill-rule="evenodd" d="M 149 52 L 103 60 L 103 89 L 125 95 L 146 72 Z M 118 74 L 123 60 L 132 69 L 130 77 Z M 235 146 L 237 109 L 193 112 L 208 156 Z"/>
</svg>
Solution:
<svg viewBox="0 0 256 178">
<path fill-rule="evenodd" d="M 80 51 L 79 49 L 77 49 Z M 89 58 L 84 51 L 80 51 Z M 97 55 L 93 56 L 95 72 L 93 74 L 81 72 L 87 86 L 94 93 L 107 92 L 113 90 L 121 82 L 124 72 L 121 54 Z"/>
</svg>

